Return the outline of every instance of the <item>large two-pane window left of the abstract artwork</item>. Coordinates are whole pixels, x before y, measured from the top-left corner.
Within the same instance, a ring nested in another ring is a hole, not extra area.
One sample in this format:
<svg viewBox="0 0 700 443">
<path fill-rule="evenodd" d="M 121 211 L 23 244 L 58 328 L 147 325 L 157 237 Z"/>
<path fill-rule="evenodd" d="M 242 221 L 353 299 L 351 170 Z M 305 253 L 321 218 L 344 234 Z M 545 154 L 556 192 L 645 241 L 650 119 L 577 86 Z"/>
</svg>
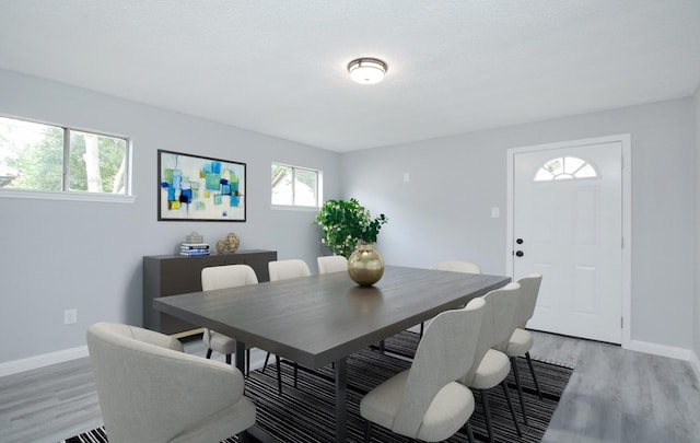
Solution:
<svg viewBox="0 0 700 443">
<path fill-rule="evenodd" d="M 127 196 L 129 141 L 0 117 L 0 188 Z"/>
</svg>

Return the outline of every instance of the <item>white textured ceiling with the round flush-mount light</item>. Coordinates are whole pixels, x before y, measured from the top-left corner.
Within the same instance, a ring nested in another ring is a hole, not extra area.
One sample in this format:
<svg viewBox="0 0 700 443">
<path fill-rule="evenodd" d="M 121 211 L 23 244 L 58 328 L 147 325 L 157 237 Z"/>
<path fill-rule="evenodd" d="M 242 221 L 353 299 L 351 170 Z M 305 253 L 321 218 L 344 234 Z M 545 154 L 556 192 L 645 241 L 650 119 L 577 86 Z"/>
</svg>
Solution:
<svg viewBox="0 0 700 443">
<path fill-rule="evenodd" d="M 348 152 L 690 96 L 700 1 L 0 0 L 0 68 Z"/>
</svg>

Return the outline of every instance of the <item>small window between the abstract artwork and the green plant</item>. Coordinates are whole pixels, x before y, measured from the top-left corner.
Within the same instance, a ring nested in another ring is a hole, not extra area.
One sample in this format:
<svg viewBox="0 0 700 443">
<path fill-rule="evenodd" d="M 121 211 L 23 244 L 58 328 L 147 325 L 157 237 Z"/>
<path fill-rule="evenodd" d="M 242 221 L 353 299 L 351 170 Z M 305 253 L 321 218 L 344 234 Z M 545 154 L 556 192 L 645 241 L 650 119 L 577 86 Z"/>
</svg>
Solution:
<svg viewBox="0 0 700 443">
<path fill-rule="evenodd" d="M 318 208 L 319 171 L 272 163 L 272 205 Z"/>
</svg>

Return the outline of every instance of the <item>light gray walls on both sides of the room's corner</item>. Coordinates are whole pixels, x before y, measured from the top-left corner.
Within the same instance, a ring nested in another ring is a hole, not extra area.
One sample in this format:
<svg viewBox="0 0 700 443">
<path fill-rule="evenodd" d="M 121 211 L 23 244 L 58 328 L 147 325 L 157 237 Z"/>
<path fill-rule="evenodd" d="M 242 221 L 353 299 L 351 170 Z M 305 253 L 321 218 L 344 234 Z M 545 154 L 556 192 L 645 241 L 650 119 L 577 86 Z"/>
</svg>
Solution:
<svg viewBox="0 0 700 443">
<path fill-rule="evenodd" d="M 272 161 L 323 170 L 325 198 L 358 197 L 386 213 L 377 246 L 388 264 L 464 258 L 503 273 L 506 149 L 623 132 L 632 133 L 633 156 L 632 338 L 695 346 L 700 354 L 700 291 L 690 277 L 700 254 L 693 246 L 699 100 L 340 155 L 0 70 L 0 114 L 131 137 L 138 197 L 132 205 L 0 198 L 0 363 L 83 346 L 94 322 L 140 324 L 141 257 L 174 252 L 191 231 L 211 243 L 233 231 L 242 248 L 277 249 L 315 268 L 324 253 L 311 224 L 315 212 L 270 209 Z M 246 162 L 248 221 L 158 222 L 158 149 Z M 492 207 L 501 218 L 491 218 Z M 78 308 L 77 325 L 62 324 L 68 307 Z"/>
</svg>

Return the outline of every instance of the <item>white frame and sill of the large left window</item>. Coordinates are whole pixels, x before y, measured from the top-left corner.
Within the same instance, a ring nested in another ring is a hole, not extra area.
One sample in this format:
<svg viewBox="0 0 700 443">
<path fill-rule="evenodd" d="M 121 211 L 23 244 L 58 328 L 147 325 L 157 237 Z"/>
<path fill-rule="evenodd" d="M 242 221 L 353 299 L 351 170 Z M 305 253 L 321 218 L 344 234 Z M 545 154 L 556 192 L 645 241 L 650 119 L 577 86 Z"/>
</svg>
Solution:
<svg viewBox="0 0 700 443">
<path fill-rule="evenodd" d="M 20 120 L 30 124 L 51 126 L 60 128 L 63 137 L 63 164 L 61 165 L 61 190 L 46 190 L 46 189 L 27 189 L 27 188 L 0 188 L 0 197 L 8 198 L 22 198 L 22 199 L 42 199 L 42 200 L 73 200 L 73 201 L 97 201 L 97 202 L 117 202 L 117 203 L 132 203 L 136 201 L 133 195 L 132 179 L 133 179 L 133 164 L 132 164 L 132 140 L 130 137 L 110 133 L 102 130 L 93 130 L 79 128 L 68 125 L 60 125 L 45 120 L 37 120 L 26 117 L 18 117 L 14 115 L 8 115 L 0 113 L 0 117 Z M 82 190 L 70 190 L 70 141 L 71 132 L 83 132 L 98 137 L 109 137 L 115 139 L 121 139 L 126 142 L 126 172 L 124 177 L 124 194 L 112 193 L 89 193 Z"/>
</svg>

